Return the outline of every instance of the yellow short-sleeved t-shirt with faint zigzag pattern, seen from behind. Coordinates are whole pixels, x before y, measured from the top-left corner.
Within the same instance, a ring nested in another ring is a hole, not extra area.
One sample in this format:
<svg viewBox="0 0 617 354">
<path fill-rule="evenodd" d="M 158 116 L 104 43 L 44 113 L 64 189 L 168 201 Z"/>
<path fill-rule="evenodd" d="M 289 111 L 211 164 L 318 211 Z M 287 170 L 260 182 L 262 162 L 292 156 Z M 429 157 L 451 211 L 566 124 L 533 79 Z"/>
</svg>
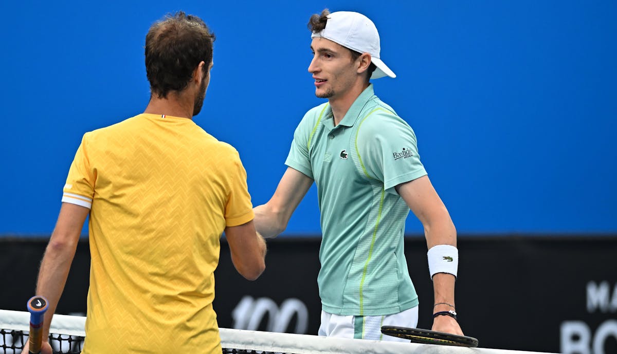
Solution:
<svg viewBox="0 0 617 354">
<path fill-rule="evenodd" d="M 83 353 L 221 352 L 220 236 L 254 218 L 233 147 L 140 114 L 83 136 L 62 202 L 91 208 Z"/>
</svg>

